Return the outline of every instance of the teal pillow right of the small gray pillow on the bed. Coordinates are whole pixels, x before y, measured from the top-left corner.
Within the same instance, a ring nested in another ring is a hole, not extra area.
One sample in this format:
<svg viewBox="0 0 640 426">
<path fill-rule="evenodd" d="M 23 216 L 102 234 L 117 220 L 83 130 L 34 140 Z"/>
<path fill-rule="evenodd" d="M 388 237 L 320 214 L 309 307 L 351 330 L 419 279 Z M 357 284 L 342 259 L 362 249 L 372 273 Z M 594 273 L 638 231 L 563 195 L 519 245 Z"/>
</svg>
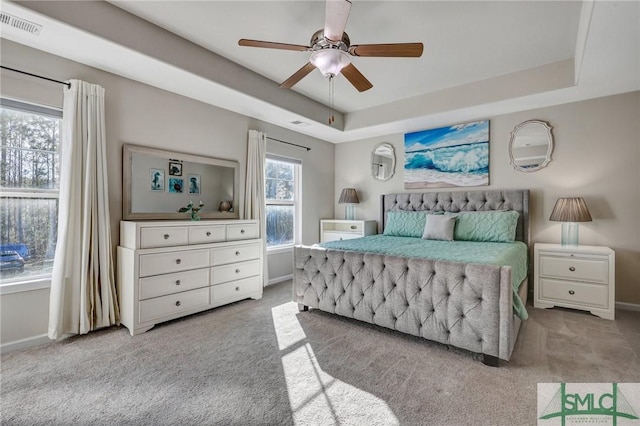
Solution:
<svg viewBox="0 0 640 426">
<path fill-rule="evenodd" d="M 516 239 L 520 214 L 515 210 L 462 212 L 455 216 L 455 240 L 510 243 Z"/>
</svg>

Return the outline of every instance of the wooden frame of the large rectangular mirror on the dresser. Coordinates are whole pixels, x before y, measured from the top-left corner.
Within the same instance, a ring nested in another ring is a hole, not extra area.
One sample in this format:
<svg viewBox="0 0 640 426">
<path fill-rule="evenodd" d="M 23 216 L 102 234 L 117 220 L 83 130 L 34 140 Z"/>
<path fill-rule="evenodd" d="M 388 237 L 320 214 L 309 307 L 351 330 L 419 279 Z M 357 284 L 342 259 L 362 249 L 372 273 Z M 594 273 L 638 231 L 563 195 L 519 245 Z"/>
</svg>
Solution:
<svg viewBox="0 0 640 426">
<path fill-rule="evenodd" d="M 132 195 L 132 174 L 133 174 L 133 155 L 142 154 L 158 157 L 167 161 L 175 161 L 179 159 L 181 162 L 192 162 L 212 166 L 229 167 L 233 169 L 233 211 L 218 211 L 218 205 L 211 206 L 212 210 L 201 210 L 198 213 L 202 219 L 238 219 L 240 217 L 239 208 L 239 182 L 240 182 L 240 164 L 237 161 L 222 160 L 212 157 L 203 157 L 200 155 L 184 154 L 174 151 L 166 151 L 162 149 L 149 148 L 144 146 L 125 144 L 122 147 L 122 220 L 164 220 L 164 219 L 184 219 L 190 220 L 187 213 L 178 213 L 177 206 L 175 212 L 134 212 L 132 211 L 131 195 Z M 198 200 L 193 200 L 197 204 Z"/>
</svg>

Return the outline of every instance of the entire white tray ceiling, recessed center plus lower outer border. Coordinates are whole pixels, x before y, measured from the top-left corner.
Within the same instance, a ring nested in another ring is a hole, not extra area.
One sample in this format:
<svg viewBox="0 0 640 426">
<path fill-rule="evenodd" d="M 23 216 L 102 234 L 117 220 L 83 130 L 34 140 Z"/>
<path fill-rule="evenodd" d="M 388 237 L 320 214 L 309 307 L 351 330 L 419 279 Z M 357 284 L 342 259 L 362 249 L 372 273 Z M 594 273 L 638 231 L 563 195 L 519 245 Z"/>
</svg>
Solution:
<svg viewBox="0 0 640 426">
<path fill-rule="evenodd" d="M 640 89 L 636 1 L 353 0 L 352 44 L 422 42 L 425 49 L 418 59 L 353 58 L 374 87 L 359 93 L 336 79 L 335 107 L 343 114 L 334 126 L 324 122 L 329 84 L 319 72 L 294 86 L 297 94 L 277 89 L 308 61 L 307 52 L 237 45 L 240 38 L 308 44 L 323 26 L 322 1 L 112 1 L 120 9 L 85 2 L 74 10 L 69 3 L 2 0 L 3 10 L 44 29 L 34 38 L 3 25 L 0 35 L 331 142 Z M 222 58 L 192 49 L 215 65 L 198 69 L 191 50 L 168 51 L 172 40 L 124 11 Z M 158 36 L 155 45 L 150 34 Z"/>
</svg>

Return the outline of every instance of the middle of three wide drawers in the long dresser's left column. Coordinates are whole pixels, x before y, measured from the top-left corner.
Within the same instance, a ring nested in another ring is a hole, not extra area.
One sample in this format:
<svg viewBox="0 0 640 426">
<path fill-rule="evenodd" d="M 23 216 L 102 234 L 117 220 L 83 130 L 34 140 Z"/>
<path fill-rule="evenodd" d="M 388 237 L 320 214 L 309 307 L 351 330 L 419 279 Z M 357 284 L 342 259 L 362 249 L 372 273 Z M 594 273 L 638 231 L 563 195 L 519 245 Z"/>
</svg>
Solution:
<svg viewBox="0 0 640 426">
<path fill-rule="evenodd" d="M 209 285 L 209 268 L 140 278 L 138 299 L 150 299 Z"/>
</svg>

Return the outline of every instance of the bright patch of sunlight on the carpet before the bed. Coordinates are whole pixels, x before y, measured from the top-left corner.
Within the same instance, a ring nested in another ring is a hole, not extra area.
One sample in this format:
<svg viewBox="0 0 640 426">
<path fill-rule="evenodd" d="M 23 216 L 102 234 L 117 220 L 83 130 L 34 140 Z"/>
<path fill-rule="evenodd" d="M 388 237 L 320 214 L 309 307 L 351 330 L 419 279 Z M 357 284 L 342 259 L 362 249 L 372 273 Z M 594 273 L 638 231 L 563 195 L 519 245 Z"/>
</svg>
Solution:
<svg viewBox="0 0 640 426">
<path fill-rule="evenodd" d="M 384 400 L 322 370 L 296 319 L 296 303 L 276 306 L 271 314 L 296 424 L 335 424 L 345 419 L 362 424 L 380 419 L 385 424 L 400 423 Z"/>
</svg>

